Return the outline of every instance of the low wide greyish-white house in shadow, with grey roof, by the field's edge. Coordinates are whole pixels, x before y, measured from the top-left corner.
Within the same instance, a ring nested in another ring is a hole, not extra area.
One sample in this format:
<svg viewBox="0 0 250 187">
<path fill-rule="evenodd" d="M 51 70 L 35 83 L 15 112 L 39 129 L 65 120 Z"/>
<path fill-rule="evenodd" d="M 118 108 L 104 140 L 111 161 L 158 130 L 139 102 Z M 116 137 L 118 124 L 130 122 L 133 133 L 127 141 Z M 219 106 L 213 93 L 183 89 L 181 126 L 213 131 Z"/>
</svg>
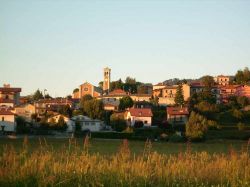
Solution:
<svg viewBox="0 0 250 187">
<path fill-rule="evenodd" d="M 87 116 L 78 115 L 71 118 L 74 122 L 74 127 L 79 124 L 81 126 L 81 130 L 89 130 L 90 132 L 97 132 L 104 128 L 104 123 L 98 119 L 91 119 Z"/>
</svg>

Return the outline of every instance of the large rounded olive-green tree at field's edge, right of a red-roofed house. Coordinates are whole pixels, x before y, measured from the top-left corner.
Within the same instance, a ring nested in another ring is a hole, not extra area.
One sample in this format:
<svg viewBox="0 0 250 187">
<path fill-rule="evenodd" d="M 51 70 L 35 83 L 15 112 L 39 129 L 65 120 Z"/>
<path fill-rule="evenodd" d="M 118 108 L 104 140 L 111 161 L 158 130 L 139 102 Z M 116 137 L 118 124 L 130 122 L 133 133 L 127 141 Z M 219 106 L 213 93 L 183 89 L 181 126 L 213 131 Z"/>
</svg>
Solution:
<svg viewBox="0 0 250 187">
<path fill-rule="evenodd" d="M 207 119 L 192 112 L 186 124 L 186 136 L 191 139 L 203 139 L 208 129 Z"/>
</svg>

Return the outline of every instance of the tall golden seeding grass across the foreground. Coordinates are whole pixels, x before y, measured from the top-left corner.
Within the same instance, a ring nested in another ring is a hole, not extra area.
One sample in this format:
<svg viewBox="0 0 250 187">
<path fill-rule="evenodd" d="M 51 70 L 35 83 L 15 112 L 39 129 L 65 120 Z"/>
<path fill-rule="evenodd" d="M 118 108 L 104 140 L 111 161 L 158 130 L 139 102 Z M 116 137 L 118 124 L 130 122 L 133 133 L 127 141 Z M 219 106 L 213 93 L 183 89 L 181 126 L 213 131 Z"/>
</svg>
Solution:
<svg viewBox="0 0 250 187">
<path fill-rule="evenodd" d="M 21 151 L 5 146 L 0 155 L 0 186 L 250 186 L 248 145 L 228 154 L 192 152 L 178 155 L 152 151 L 150 141 L 134 155 L 124 140 L 114 155 L 89 154 L 91 141 L 79 146 L 75 139 L 62 151 L 45 139 L 29 151 L 26 138 Z"/>
</svg>

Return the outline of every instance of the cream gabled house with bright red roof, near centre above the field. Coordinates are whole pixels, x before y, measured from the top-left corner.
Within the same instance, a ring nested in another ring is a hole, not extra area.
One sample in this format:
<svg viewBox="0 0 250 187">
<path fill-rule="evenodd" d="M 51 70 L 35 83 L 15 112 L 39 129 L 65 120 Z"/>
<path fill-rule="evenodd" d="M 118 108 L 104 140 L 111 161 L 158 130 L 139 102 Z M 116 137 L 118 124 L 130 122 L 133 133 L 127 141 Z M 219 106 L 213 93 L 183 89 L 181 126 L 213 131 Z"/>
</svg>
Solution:
<svg viewBox="0 0 250 187">
<path fill-rule="evenodd" d="M 153 113 L 151 108 L 130 108 L 126 114 L 125 119 L 134 126 L 136 122 L 141 121 L 146 127 L 152 125 Z"/>
</svg>

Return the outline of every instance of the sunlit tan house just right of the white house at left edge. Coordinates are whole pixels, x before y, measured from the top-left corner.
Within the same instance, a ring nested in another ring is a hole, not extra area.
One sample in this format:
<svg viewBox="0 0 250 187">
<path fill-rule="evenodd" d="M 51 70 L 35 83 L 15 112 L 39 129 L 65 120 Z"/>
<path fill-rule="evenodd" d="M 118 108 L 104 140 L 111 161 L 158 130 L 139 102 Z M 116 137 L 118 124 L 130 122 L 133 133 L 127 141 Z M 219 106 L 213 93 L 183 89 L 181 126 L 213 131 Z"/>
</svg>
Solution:
<svg viewBox="0 0 250 187">
<path fill-rule="evenodd" d="M 22 104 L 16 106 L 14 113 L 18 116 L 24 117 L 26 120 L 31 120 L 31 115 L 36 112 L 35 106 L 33 104 Z"/>
</svg>

